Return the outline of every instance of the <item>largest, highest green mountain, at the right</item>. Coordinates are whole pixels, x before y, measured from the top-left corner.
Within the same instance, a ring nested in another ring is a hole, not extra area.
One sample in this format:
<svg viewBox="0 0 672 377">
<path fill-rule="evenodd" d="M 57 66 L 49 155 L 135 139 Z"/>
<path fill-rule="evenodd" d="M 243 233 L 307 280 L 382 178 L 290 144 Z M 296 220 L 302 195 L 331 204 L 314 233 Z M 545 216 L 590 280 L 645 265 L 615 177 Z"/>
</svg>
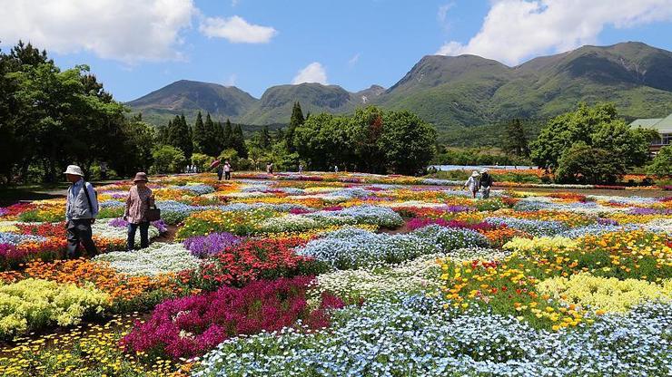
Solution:
<svg viewBox="0 0 672 377">
<path fill-rule="evenodd" d="M 515 67 L 473 55 L 425 56 L 378 104 L 408 109 L 439 130 L 548 118 L 578 102 L 615 102 L 628 117 L 672 104 L 672 53 L 645 43 L 583 46 Z"/>
</svg>

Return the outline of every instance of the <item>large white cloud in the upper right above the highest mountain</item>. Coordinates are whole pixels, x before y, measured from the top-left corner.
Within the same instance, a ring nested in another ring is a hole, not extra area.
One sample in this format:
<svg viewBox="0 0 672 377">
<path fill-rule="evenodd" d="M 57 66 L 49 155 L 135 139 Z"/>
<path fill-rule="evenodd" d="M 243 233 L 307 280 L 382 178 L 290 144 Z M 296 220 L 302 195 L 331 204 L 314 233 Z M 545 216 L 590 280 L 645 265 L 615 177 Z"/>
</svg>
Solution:
<svg viewBox="0 0 672 377">
<path fill-rule="evenodd" d="M 451 41 L 437 53 L 478 54 L 518 64 L 541 53 L 597 43 L 603 28 L 628 28 L 672 20 L 672 0 L 494 0 L 478 34 Z"/>
</svg>

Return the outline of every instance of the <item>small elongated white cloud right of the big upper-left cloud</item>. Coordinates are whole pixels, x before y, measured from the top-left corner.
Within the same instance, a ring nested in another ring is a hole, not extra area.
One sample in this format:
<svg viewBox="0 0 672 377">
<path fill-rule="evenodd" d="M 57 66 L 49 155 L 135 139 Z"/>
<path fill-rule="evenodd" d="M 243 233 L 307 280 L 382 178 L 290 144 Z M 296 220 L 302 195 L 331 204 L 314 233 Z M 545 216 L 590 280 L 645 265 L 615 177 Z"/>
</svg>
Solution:
<svg viewBox="0 0 672 377">
<path fill-rule="evenodd" d="M 270 26 L 249 24 L 238 15 L 205 18 L 199 30 L 208 37 L 224 38 L 231 43 L 268 43 L 278 34 Z"/>
</svg>

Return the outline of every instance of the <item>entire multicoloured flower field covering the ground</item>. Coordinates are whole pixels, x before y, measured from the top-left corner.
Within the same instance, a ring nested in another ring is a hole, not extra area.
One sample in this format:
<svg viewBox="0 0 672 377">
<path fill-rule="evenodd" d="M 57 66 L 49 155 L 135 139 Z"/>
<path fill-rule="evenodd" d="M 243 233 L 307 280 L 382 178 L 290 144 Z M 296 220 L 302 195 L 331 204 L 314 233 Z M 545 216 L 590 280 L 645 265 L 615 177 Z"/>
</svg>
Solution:
<svg viewBox="0 0 672 377">
<path fill-rule="evenodd" d="M 0 375 L 667 376 L 672 198 L 366 174 L 166 176 L 126 252 L 64 199 L 0 208 Z M 139 243 L 139 240 L 138 240 Z"/>
</svg>

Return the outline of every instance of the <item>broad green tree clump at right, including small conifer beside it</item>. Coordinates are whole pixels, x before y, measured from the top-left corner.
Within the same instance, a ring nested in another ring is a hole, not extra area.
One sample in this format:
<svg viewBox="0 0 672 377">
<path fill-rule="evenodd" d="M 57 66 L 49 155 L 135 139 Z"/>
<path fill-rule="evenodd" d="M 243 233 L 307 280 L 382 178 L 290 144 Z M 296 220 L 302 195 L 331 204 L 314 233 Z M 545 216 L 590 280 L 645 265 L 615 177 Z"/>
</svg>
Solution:
<svg viewBox="0 0 672 377">
<path fill-rule="evenodd" d="M 550 119 L 530 143 L 520 121 L 510 121 L 502 149 L 529 158 L 557 182 L 614 183 L 638 169 L 665 177 L 672 174 L 672 147 L 651 159 L 649 145 L 657 131 L 631 128 L 613 103 L 579 103 Z"/>
</svg>

